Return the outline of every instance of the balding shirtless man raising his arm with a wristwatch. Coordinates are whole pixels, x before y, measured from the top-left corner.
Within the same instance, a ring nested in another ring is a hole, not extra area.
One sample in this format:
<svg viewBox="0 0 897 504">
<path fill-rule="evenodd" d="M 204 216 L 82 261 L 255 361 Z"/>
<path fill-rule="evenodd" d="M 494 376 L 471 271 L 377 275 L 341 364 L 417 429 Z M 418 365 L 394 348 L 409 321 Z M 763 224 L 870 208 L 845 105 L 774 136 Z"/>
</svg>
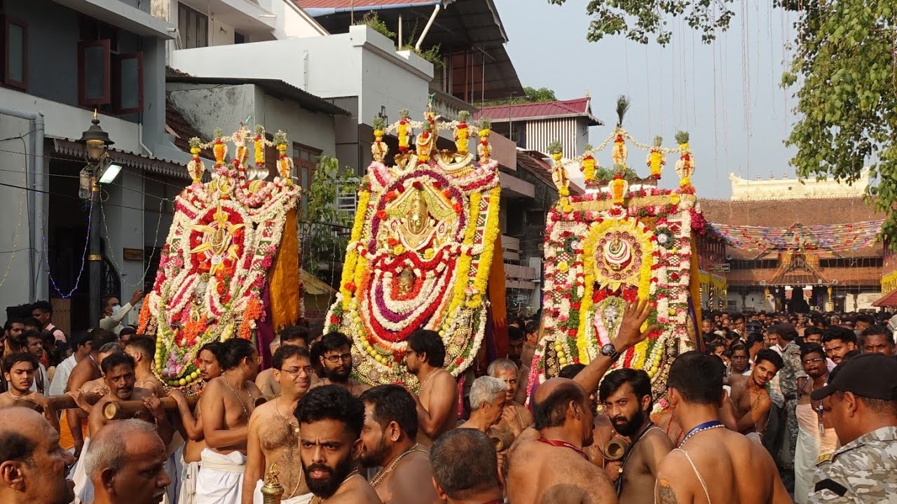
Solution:
<svg viewBox="0 0 897 504">
<path fill-rule="evenodd" d="M 582 447 L 593 440 L 588 391 L 594 390 L 622 352 L 657 330 L 649 326 L 648 300 L 623 312 L 618 335 L 574 379 L 551 378 L 532 397 L 536 430 L 520 436 L 509 452 L 508 500 L 514 504 L 614 502 L 607 474 L 588 461 Z"/>
</svg>

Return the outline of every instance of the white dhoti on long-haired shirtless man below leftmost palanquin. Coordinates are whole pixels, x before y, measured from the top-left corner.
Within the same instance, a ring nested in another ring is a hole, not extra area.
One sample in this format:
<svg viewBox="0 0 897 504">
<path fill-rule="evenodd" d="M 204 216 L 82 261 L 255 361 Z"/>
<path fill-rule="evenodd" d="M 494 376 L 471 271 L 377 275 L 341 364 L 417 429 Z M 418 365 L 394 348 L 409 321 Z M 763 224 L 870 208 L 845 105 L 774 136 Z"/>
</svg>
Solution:
<svg viewBox="0 0 897 504">
<path fill-rule="evenodd" d="M 227 455 L 205 448 L 196 474 L 196 504 L 239 504 L 243 491 L 246 456 Z"/>
</svg>

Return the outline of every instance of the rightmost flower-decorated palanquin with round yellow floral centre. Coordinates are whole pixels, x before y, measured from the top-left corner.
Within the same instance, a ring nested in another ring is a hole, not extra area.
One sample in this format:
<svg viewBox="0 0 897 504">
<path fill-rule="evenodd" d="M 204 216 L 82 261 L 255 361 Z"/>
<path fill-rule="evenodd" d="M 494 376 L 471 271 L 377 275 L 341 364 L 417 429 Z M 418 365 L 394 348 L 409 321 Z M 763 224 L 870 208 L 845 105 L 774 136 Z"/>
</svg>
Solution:
<svg viewBox="0 0 897 504">
<path fill-rule="evenodd" d="M 646 327 L 660 330 L 627 351 L 614 368 L 644 369 L 654 396 L 666 391 L 673 359 L 694 347 L 700 302 L 692 244 L 703 218 L 690 177 L 694 165 L 687 134 L 676 135 L 678 148 L 638 143 L 617 126 L 605 142 L 571 161 L 553 149 L 553 178 L 560 198 L 548 213 L 544 244 L 544 337 L 536 350 L 529 387 L 558 375 L 571 363 L 588 364 L 619 330 L 626 304 L 649 299 L 656 306 Z M 649 178 L 638 178 L 626 165 L 626 142 L 648 151 Z M 597 169 L 594 153 L 612 144 L 614 168 Z M 675 190 L 653 187 L 667 153 L 677 153 Z M 570 196 L 565 167 L 579 164 L 587 191 Z M 608 179 L 601 180 L 603 173 Z M 627 178 L 629 178 L 627 180 Z M 695 272 L 695 274 L 692 274 Z M 666 407 L 661 399 L 659 408 Z"/>
</svg>

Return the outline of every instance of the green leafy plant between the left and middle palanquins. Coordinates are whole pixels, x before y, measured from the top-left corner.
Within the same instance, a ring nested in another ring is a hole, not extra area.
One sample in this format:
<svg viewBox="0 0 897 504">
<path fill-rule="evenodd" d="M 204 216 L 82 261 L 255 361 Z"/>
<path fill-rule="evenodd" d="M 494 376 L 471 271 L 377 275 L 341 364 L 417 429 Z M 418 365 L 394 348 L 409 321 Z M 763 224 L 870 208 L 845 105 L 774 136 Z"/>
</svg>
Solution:
<svg viewBox="0 0 897 504">
<path fill-rule="evenodd" d="M 340 169 L 339 161 L 321 156 L 315 166 L 311 187 L 302 198 L 306 200 L 300 223 L 302 267 L 318 272 L 318 266 L 341 265 L 348 244 L 351 213 L 336 210 L 336 196 L 340 191 L 354 191 L 357 178 L 349 167 Z"/>
</svg>

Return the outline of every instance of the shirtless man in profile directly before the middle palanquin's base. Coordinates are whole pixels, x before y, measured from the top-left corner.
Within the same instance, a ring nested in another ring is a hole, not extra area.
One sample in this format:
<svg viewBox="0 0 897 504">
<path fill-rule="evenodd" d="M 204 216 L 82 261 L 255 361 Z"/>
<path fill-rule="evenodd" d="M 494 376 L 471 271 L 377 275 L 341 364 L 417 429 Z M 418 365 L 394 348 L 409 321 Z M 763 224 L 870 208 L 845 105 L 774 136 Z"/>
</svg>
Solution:
<svg viewBox="0 0 897 504">
<path fill-rule="evenodd" d="M 408 336 L 405 367 L 417 378 L 420 395 L 405 388 L 417 404 L 417 442 L 425 447 L 457 423 L 457 382 L 442 369 L 445 358 L 445 344 L 436 332 L 421 329 Z"/>
</svg>

